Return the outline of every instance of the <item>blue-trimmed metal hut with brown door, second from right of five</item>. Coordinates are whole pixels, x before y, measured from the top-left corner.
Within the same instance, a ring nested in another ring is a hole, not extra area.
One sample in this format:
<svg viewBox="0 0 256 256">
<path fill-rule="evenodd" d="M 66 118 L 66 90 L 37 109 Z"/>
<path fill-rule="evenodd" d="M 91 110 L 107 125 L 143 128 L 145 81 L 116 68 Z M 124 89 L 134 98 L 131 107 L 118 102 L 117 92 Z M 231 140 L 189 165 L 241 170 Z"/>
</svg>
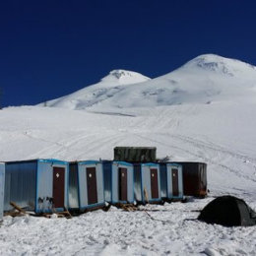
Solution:
<svg viewBox="0 0 256 256">
<path fill-rule="evenodd" d="M 138 203 L 160 203 L 160 165 L 134 163 L 134 193 Z"/>
</svg>

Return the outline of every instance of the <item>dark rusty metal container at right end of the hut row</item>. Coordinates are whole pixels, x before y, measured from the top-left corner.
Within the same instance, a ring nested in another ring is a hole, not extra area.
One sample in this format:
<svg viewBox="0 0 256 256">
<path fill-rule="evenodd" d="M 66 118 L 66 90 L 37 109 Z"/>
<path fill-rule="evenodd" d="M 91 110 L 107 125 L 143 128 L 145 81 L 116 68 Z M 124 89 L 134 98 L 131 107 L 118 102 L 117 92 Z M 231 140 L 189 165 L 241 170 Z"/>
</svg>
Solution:
<svg viewBox="0 0 256 256">
<path fill-rule="evenodd" d="M 185 196 L 207 195 L 207 164 L 197 161 L 179 161 L 182 165 L 183 190 Z"/>
</svg>

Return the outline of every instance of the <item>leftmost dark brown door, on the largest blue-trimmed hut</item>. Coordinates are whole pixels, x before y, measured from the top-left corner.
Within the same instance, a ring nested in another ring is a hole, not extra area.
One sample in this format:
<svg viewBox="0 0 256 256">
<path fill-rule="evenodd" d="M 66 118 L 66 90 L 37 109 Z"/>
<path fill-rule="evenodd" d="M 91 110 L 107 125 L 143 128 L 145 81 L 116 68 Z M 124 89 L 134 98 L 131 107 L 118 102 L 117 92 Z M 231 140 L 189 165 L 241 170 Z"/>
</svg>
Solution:
<svg viewBox="0 0 256 256">
<path fill-rule="evenodd" d="M 64 208 L 65 168 L 53 167 L 53 204 L 55 208 Z"/>
</svg>

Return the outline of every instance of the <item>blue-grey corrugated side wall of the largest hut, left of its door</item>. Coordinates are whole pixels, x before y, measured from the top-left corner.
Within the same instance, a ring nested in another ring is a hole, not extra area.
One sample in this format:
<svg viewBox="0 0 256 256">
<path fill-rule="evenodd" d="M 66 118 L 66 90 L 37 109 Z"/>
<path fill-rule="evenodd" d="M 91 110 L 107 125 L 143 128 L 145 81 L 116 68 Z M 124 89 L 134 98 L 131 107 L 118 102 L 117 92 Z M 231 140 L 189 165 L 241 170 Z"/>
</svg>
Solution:
<svg viewBox="0 0 256 256">
<path fill-rule="evenodd" d="M 10 202 L 33 211 L 35 208 L 36 160 L 6 163 L 4 211 L 13 209 Z"/>
</svg>

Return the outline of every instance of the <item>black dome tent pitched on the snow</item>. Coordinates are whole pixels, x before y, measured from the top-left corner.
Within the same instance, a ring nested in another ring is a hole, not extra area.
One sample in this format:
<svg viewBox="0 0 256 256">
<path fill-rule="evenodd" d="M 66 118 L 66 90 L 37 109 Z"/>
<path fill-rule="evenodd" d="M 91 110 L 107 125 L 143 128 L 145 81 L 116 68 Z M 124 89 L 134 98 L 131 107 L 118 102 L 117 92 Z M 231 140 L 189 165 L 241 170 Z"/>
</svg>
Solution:
<svg viewBox="0 0 256 256">
<path fill-rule="evenodd" d="M 222 196 L 210 202 L 202 210 L 198 220 L 207 224 L 247 226 L 256 224 L 256 213 L 242 199 Z"/>
</svg>

